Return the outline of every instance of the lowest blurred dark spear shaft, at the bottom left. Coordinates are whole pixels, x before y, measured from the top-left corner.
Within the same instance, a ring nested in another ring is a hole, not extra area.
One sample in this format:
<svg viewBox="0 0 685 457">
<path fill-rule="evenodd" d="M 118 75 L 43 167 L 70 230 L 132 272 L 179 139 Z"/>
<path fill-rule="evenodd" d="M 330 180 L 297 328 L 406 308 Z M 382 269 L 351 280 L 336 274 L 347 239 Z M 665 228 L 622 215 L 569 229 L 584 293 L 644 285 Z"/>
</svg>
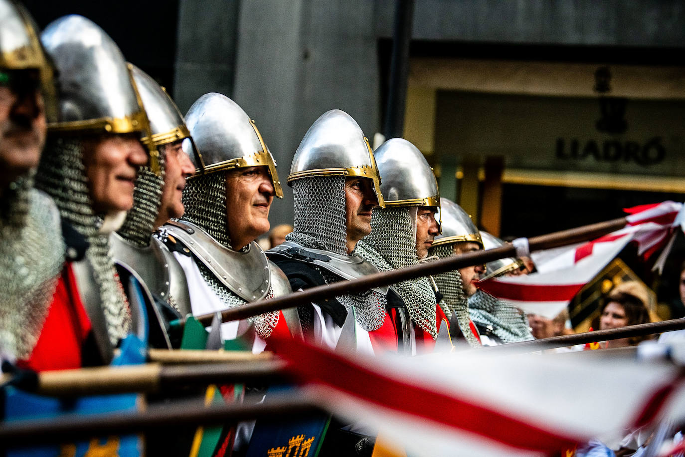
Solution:
<svg viewBox="0 0 685 457">
<path fill-rule="evenodd" d="M 264 404 L 203 407 L 173 404 L 146 412 L 120 412 L 103 415 L 65 415 L 59 420 L 34 419 L 0 423 L 0 443 L 8 447 L 28 447 L 46 443 L 68 443 L 88 436 L 112 436 L 168 428 L 173 425 L 214 425 L 247 419 L 288 419 L 321 412 L 301 399 L 273 399 Z"/>
</svg>

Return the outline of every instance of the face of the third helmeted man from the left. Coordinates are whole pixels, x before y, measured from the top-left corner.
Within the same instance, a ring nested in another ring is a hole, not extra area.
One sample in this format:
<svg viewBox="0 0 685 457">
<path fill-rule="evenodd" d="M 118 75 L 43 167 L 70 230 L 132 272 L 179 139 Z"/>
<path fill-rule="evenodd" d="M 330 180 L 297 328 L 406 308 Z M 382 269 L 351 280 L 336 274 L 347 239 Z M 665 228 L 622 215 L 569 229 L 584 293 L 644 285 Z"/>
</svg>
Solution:
<svg viewBox="0 0 685 457">
<path fill-rule="evenodd" d="M 160 227 L 171 218 L 182 217 L 185 210 L 181 201 L 182 193 L 186 187 L 186 178 L 195 173 L 195 166 L 183 150 L 182 142 L 183 140 L 177 140 L 160 147 L 165 164 L 164 189 L 155 227 Z"/>
</svg>

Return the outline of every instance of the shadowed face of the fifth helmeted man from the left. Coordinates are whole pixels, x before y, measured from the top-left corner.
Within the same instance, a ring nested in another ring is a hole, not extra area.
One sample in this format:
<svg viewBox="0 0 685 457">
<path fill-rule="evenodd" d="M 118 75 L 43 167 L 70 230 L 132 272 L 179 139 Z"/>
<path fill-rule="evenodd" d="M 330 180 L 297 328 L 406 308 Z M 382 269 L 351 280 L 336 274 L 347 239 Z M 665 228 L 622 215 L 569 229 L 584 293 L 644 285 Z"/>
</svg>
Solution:
<svg viewBox="0 0 685 457">
<path fill-rule="evenodd" d="M 371 210 L 378 205 L 373 191 L 373 181 L 366 177 L 345 178 L 345 227 L 347 227 L 347 251 L 371 233 Z M 351 246 L 351 247 L 350 247 Z"/>
</svg>

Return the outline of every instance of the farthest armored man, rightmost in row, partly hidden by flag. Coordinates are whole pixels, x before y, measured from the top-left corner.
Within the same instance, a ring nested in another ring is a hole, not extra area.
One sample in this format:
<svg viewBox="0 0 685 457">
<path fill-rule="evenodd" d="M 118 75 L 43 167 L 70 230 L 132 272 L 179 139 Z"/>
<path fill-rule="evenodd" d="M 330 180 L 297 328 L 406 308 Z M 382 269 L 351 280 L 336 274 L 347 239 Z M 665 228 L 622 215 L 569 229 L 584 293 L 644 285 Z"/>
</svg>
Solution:
<svg viewBox="0 0 685 457">
<path fill-rule="evenodd" d="M 502 240 L 480 232 L 484 249 L 493 249 L 504 244 Z M 503 258 L 486 264 L 486 275 L 481 280 L 501 275 L 516 275 L 525 267 L 522 260 Z M 469 295 L 469 314 L 477 326 L 484 346 L 518 343 L 534 339 L 525 314 L 512 304 L 501 301 L 478 289 Z"/>
</svg>

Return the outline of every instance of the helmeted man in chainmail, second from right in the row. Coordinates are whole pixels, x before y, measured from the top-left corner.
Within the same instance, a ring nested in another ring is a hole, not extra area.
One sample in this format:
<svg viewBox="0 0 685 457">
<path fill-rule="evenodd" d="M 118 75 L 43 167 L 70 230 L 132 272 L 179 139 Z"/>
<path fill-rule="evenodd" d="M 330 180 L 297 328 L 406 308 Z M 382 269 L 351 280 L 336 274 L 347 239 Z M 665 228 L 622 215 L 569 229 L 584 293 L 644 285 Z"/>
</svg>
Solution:
<svg viewBox="0 0 685 457">
<path fill-rule="evenodd" d="M 483 240 L 480 232 L 471 221 L 471 216 L 461 206 L 449 199 L 441 198 L 440 217 L 443 233 L 436 236 L 433 241 L 429 249 L 431 256 L 447 258 L 482 249 Z M 434 277 L 438 291 L 443 295 L 440 307 L 451 317 L 451 334 L 458 339 L 464 338 L 471 347 L 479 347 L 481 343 L 475 325 L 469 317 L 468 297 L 477 291 L 475 283 L 484 271 L 484 266 L 480 264 L 439 273 Z"/>
</svg>

